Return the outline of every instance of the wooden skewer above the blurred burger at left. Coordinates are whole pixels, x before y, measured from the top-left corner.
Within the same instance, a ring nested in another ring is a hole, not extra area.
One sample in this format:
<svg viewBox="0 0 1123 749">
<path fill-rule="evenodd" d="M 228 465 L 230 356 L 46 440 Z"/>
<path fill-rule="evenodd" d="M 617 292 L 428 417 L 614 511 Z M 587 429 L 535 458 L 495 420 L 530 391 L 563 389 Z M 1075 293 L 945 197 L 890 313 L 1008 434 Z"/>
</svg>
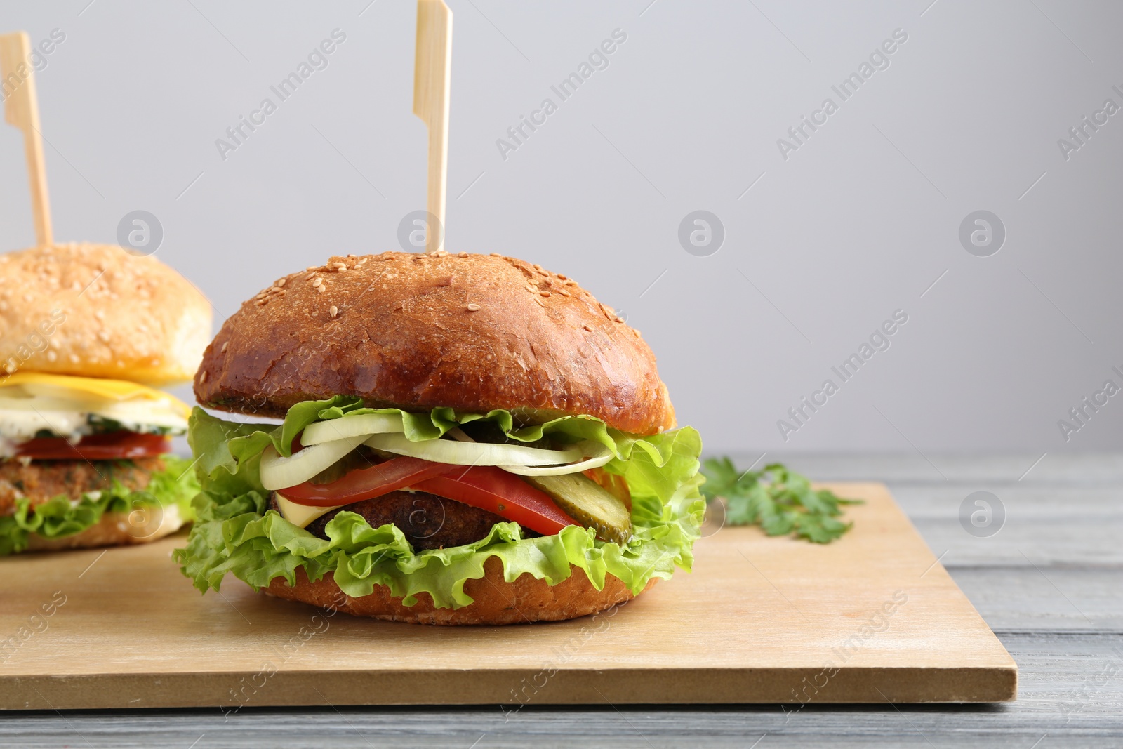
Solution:
<svg viewBox="0 0 1123 749">
<path fill-rule="evenodd" d="M 39 135 L 39 103 L 35 97 L 34 68 L 28 64 L 31 43 L 24 31 L 0 35 L 0 89 L 3 91 L 4 119 L 24 131 L 27 175 L 31 183 L 31 210 L 35 238 L 40 247 L 53 244 L 51 203 L 47 200 L 47 170 L 43 162 Z"/>
</svg>

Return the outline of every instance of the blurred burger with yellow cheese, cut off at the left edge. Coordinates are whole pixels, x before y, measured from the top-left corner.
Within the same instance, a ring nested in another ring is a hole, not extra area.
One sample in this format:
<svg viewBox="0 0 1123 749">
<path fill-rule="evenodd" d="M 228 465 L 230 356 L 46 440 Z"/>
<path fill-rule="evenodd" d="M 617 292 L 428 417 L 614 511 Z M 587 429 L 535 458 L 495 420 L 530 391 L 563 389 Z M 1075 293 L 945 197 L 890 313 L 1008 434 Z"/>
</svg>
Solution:
<svg viewBox="0 0 1123 749">
<path fill-rule="evenodd" d="M 150 541 L 190 519 L 207 299 L 154 257 L 70 244 L 0 255 L 0 555 Z"/>
</svg>

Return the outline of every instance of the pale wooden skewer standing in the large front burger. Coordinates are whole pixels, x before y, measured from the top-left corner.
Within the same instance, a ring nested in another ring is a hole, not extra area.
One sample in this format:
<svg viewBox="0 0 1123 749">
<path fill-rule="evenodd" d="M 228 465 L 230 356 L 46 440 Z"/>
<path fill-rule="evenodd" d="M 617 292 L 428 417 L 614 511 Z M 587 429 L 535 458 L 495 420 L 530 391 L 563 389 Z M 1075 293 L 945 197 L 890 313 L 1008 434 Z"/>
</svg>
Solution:
<svg viewBox="0 0 1123 749">
<path fill-rule="evenodd" d="M 448 181 L 448 101 L 453 62 L 453 11 L 444 0 L 418 0 L 413 61 L 413 113 L 429 128 L 429 183 L 426 205 L 437 227 L 426 230 L 427 253 L 445 245 Z"/>
</svg>

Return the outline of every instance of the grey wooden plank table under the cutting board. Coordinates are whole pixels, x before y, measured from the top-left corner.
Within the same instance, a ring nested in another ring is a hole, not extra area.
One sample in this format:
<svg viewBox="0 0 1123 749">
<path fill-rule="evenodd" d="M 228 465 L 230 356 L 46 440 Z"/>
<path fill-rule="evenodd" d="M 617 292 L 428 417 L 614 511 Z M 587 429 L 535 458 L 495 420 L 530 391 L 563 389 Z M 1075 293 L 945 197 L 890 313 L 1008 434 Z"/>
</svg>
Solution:
<svg viewBox="0 0 1123 749">
<path fill-rule="evenodd" d="M 777 456 L 768 456 L 774 459 Z M 137 711 L 0 714 L 12 747 L 1123 747 L 1123 455 L 798 456 L 822 481 L 886 482 L 1020 668 L 1004 705 Z M 745 465 L 755 459 L 751 456 Z M 1032 467 L 1032 469 L 1030 469 Z M 988 538 L 959 506 L 993 492 Z M 316 700 L 309 700 L 316 702 Z"/>
</svg>

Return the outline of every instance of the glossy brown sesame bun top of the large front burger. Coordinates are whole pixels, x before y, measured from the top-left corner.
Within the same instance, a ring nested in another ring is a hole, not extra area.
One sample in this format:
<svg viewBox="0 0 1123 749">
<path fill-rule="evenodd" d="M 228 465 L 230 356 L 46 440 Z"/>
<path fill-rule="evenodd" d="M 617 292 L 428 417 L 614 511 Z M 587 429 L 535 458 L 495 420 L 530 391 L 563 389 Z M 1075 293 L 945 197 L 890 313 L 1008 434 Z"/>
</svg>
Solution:
<svg viewBox="0 0 1123 749">
<path fill-rule="evenodd" d="M 245 302 L 195 375 L 203 405 L 283 417 L 304 400 L 591 414 L 622 431 L 675 426 L 655 356 L 572 278 L 513 257 L 331 257 Z"/>
</svg>

